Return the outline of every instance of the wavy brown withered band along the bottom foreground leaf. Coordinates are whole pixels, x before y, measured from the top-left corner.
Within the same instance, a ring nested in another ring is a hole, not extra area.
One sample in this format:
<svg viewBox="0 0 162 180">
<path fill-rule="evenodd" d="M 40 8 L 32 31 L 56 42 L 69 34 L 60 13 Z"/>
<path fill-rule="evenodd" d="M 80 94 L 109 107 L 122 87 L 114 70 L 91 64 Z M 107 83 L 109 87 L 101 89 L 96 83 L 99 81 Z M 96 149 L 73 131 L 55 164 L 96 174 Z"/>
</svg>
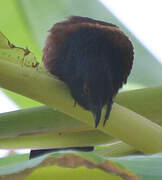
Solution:
<svg viewBox="0 0 162 180">
<path fill-rule="evenodd" d="M 104 172 L 114 174 L 116 176 L 120 176 L 121 178 L 123 178 L 123 180 L 140 180 L 140 178 L 137 177 L 135 174 L 130 173 L 125 169 L 122 169 L 121 167 L 117 166 L 117 164 L 111 161 L 105 160 L 104 162 L 101 163 L 95 163 L 79 155 L 73 155 L 73 154 L 68 154 L 57 158 L 48 157 L 36 167 L 25 169 L 24 171 L 21 171 L 19 173 L 0 176 L 0 180 L 11 180 L 11 179 L 19 180 L 28 176 L 38 168 L 50 166 L 50 165 L 58 165 L 61 167 L 68 167 L 68 168 L 77 168 L 80 166 L 85 166 L 88 169 L 97 168 L 103 170 Z"/>
</svg>

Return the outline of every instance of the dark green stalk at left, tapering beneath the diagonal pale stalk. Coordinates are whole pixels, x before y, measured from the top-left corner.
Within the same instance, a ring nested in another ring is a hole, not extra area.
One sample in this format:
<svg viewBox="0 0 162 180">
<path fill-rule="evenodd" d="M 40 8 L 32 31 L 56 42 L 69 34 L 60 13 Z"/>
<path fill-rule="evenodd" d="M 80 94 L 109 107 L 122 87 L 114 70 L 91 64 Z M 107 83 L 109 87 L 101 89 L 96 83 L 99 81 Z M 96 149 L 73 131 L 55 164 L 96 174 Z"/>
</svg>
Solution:
<svg viewBox="0 0 162 180">
<path fill-rule="evenodd" d="M 47 106 L 0 114 L 0 139 L 54 132 L 88 130 L 87 124 Z"/>
</svg>

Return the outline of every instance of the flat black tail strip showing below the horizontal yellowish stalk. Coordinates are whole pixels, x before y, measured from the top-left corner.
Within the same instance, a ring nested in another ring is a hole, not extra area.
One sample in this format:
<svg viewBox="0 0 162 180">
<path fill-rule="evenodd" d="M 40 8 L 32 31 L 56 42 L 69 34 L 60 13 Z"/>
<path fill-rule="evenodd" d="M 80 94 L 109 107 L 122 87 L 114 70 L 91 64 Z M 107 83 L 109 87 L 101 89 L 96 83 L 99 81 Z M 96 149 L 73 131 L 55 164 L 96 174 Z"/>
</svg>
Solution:
<svg viewBox="0 0 162 180">
<path fill-rule="evenodd" d="M 93 146 L 87 146 L 87 147 L 68 147 L 68 148 L 54 148 L 54 149 L 37 149 L 37 150 L 31 150 L 30 151 L 30 156 L 29 159 L 44 155 L 46 153 L 50 152 L 57 152 L 61 150 L 75 150 L 75 151 L 83 151 L 83 152 L 88 152 L 88 151 L 93 151 L 94 147 Z"/>
</svg>

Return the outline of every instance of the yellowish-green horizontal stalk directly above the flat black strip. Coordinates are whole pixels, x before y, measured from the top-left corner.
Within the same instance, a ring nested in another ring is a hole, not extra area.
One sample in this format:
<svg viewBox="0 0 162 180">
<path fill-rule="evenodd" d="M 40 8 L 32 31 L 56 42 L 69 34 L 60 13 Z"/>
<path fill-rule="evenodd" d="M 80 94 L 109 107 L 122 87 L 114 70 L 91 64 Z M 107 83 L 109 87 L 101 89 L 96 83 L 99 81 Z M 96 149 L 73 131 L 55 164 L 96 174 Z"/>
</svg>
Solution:
<svg viewBox="0 0 162 180">
<path fill-rule="evenodd" d="M 4 138 L 0 140 L 0 148 L 57 148 L 76 146 L 96 146 L 109 142 L 109 136 L 102 132 L 93 130 L 83 130 L 71 132 L 46 132 L 22 134 L 14 138 Z"/>
</svg>

